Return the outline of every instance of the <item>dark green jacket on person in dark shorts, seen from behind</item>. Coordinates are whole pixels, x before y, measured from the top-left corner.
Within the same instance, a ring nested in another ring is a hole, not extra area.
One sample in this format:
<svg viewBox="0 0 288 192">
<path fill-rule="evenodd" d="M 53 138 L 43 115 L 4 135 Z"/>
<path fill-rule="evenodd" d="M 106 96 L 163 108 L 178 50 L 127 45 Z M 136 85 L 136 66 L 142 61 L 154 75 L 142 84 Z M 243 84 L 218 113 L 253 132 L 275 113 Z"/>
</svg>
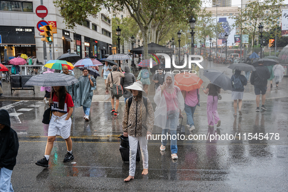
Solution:
<svg viewBox="0 0 288 192">
<path fill-rule="evenodd" d="M 250 83 L 254 86 L 267 86 L 268 79 L 270 78 L 269 69 L 263 65 L 255 67 L 256 71 L 253 71 L 250 77 Z"/>
</svg>

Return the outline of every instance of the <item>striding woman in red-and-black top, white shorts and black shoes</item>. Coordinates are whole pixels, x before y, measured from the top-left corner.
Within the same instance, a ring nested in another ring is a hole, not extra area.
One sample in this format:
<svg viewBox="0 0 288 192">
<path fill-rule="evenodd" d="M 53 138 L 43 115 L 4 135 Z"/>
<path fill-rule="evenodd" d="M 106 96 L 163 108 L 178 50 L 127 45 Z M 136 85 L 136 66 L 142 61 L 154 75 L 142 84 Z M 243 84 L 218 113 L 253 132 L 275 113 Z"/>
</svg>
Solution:
<svg viewBox="0 0 288 192">
<path fill-rule="evenodd" d="M 72 140 L 70 137 L 72 124 L 70 116 L 73 112 L 74 103 L 65 86 L 53 87 L 52 98 L 49 99 L 49 106 L 51 106 L 52 116 L 48 128 L 45 154 L 44 158 L 35 163 L 42 167 L 48 167 L 50 153 L 57 134 L 65 139 L 67 146 L 67 154 L 65 154 L 63 162 L 69 162 L 74 159 L 72 153 Z"/>
</svg>

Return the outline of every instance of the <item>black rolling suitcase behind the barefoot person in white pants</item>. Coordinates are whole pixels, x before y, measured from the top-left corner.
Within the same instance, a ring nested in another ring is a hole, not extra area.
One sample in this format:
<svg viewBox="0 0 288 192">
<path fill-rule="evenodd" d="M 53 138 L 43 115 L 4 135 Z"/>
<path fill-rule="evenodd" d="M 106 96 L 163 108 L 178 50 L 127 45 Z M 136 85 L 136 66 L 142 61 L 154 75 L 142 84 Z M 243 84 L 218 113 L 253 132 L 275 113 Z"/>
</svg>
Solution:
<svg viewBox="0 0 288 192">
<path fill-rule="evenodd" d="M 122 156 L 122 160 L 125 162 L 125 161 L 129 161 L 129 151 L 130 151 L 130 148 L 129 148 L 129 140 L 128 140 L 128 137 L 126 136 L 119 136 L 118 138 L 121 139 L 121 144 L 120 144 L 120 154 Z M 140 161 L 140 156 L 141 156 L 141 152 L 140 152 L 140 145 L 139 145 L 139 142 L 138 142 L 138 146 L 137 146 L 137 154 L 136 154 L 136 162 L 139 162 Z"/>
</svg>

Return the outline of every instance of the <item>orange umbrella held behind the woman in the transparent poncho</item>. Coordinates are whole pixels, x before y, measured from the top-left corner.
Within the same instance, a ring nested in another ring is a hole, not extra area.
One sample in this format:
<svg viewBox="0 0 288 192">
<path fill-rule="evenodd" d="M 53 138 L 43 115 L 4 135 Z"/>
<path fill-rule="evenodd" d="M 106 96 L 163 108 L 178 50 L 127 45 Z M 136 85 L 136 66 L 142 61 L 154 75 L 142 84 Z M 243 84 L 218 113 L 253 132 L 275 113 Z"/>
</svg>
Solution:
<svg viewBox="0 0 288 192">
<path fill-rule="evenodd" d="M 192 91 L 199 89 L 203 80 L 196 74 L 180 73 L 175 76 L 174 85 L 178 86 L 181 91 Z"/>
</svg>

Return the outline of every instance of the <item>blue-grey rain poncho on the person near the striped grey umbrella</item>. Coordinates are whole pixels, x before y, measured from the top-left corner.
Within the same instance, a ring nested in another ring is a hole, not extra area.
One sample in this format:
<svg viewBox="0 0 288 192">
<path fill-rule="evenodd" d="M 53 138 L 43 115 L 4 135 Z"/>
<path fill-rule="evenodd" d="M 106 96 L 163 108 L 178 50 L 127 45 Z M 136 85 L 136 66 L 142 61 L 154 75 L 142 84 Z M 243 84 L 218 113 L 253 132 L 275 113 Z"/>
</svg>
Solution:
<svg viewBox="0 0 288 192">
<path fill-rule="evenodd" d="M 93 90 L 96 89 L 96 79 L 90 76 L 94 86 L 90 84 L 88 76 L 80 76 L 78 78 L 79 82 L 74 84 L 74 98 L 75 98 L 75 107 L 91 107 Z"/>
</svg>

